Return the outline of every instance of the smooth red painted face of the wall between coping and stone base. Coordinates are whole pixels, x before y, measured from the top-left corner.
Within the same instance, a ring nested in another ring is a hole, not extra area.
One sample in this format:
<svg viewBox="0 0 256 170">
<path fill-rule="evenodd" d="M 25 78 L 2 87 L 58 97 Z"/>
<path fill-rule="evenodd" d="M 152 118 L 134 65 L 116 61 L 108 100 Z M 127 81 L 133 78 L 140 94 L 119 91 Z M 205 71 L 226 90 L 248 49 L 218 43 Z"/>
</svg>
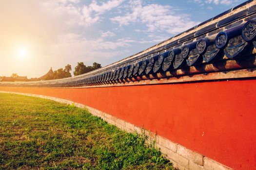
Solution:
<svg viewBox="0 0 256 170">
<path fill-rule="evenodd" d="M 256 80 L 0 90 L 79 102 L 236 170 L 256 169 Z"/>
</svg>

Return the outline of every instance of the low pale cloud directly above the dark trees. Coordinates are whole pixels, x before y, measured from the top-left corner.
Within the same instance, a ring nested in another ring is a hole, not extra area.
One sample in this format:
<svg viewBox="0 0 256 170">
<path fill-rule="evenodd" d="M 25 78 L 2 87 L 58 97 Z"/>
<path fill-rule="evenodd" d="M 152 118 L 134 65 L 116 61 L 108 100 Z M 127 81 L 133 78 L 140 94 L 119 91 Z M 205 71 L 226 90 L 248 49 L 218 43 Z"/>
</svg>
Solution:
<svg viewBox="0 0 256 170">
<path fill-rule="evenodd" d="M 58 43 L 51 46 L 51 51 L 56 58 L 70 57 L 75 66 L 77 62 L 83 61 L 85 64 L 91 62 L 101 63 L 111 58 L 115 58 L 125 53 L 118 50 L 122 47 L 131 47 L 134 41 L 129 37 L 120 38 L 115 41 L 104 41 L 103 38 L 87 39 L 79 34 L 59 35 Z M 61 53 L 59 51 L 61 50 Z"/>
</svg>

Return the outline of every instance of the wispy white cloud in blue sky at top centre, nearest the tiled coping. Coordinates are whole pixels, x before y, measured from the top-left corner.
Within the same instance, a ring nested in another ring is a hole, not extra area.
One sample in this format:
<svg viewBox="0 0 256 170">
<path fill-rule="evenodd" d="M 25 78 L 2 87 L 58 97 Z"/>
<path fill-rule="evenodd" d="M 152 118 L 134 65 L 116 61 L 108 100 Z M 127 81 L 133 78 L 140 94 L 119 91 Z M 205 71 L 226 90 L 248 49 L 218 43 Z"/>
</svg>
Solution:
<svg viewBox="0 0 256 170">
<path fill-rule="evenodd" d="M 111 21 L 120 26 L 142 23 L 146 25 L 148 32 L 170 34 L 180 33 L 198 24 L 192 21 L 188 15 L 178 13 L 169 5 L 143 5 L 141 0 L 134 0 L 131 1 L 129 9 L 131 12 L 124 16 L 112 17 Z"/>
</svg>

